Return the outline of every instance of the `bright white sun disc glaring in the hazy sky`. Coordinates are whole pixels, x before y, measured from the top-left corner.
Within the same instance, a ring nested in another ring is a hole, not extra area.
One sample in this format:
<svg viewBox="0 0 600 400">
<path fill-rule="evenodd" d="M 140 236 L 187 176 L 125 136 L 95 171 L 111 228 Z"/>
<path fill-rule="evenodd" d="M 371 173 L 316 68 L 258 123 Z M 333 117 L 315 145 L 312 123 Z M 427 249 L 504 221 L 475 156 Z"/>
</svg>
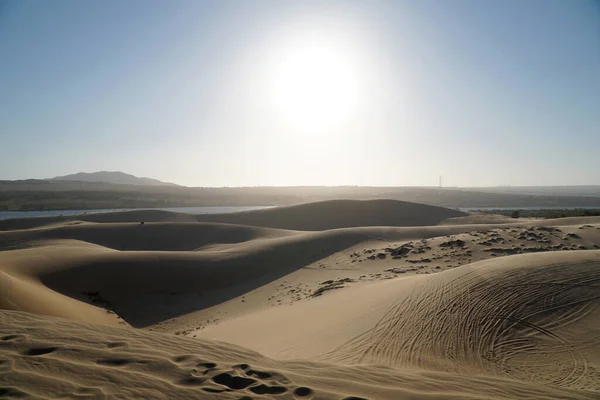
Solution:
<svg viewBox="0 0 600 400">
<path fill-rule="evenodd" d="M 306 37 L 278 52 L 269 95 L 277 117 L 296 131 L 326 132 L 347 122 L 359 100 L 357 63 L 346 46 Z"/>
</svg>

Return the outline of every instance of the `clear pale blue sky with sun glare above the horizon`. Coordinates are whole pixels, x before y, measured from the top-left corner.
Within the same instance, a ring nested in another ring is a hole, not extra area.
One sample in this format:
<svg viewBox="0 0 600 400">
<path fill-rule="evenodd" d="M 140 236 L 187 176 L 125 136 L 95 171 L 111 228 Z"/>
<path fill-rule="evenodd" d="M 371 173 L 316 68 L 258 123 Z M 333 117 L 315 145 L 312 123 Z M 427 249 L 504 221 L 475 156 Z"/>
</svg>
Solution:
<svg viewBox="0 0 600 400">
<path fill-rule="evenodd" d="M 0 180 L 600 184 L 597 0 L 0 0 Z"/>
</svg>

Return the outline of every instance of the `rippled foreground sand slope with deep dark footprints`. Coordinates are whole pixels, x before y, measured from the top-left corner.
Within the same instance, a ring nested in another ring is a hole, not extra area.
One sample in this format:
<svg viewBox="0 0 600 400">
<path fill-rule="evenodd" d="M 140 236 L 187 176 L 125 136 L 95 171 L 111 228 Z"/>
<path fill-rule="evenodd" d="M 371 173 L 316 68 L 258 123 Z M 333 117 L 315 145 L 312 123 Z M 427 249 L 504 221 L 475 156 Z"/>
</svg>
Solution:
<svg viewBox="0 0 600 400">
<path fill-rule="evenodd" d="M 0 311 L 0 396 L 127 399 L 594 399 L 520 380 L 275 361 L 216 341 Z"/>
</svg>

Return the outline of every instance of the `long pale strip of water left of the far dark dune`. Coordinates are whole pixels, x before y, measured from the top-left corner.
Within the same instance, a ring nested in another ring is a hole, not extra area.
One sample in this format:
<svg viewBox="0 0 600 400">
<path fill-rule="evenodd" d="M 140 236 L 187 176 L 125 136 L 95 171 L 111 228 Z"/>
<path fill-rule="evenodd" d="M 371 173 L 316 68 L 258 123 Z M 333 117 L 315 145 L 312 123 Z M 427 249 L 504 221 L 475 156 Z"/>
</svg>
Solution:
<svg viewBox="0 0 600 400">
<path fill-rule="evenodd" d="M 182 212 L 187 214 L 227 214 L 239 211 L 262 210 L 269 206 L 226 206 L 226 207 L 171 207 L 171 208 L 113 208 L 96 210 L 52 210 L 52 211 L 0 211 L 0 220 L 29 217 L 57 217 L 67 215 L 91 214 L 98 212 L 132 211 L 132 210 L 160 210 Z"/>
</svg>

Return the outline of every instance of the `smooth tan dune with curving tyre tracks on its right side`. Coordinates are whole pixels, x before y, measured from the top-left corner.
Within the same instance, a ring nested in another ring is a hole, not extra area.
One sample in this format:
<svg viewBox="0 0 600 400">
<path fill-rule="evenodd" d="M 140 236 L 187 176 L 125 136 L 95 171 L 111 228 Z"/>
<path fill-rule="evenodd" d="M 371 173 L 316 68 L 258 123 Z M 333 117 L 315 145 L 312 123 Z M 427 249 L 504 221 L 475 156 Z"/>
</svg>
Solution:
<svg viewBox="0 0 600 400">
<path fill-rule="evenodd" d="M 600 251 L 516 255 L 339 290 L 198 336 L 276 358 L 487 373 L 600 390 L 599 289 Z"/>
</svg>

